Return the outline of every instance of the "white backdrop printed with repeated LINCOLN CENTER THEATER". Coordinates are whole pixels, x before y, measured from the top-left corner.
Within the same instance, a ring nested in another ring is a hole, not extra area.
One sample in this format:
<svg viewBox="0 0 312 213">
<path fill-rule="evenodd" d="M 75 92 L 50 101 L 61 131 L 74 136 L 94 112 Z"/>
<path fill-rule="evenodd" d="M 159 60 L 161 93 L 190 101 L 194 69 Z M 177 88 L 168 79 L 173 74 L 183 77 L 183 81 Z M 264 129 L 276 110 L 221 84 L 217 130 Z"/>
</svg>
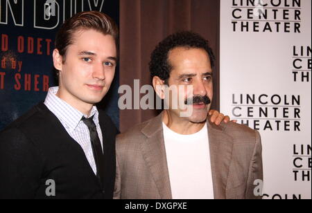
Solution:
<svg viewBox="0 0 312 213">
<path fill-rule="evenodd" d="M 311 0 L 220 10 L 220 111 L 261 133 L 264 198 L 311 198 Z"/>
</svg>

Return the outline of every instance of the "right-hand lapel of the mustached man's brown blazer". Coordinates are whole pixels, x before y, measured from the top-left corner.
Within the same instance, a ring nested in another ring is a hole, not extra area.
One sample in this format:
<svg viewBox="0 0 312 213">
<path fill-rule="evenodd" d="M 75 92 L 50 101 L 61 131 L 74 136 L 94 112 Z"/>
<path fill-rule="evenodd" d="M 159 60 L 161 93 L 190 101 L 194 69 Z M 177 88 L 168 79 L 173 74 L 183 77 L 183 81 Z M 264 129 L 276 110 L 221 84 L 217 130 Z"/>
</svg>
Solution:
<svg viewBox="0 0 312 213">
<path fill-rule="evenodd" d="M 229 165 L 232 159 L 231 138 L 223 133 L 223 127 L 207 121 L 214 198 L 225 199 Z"/>
</svg>

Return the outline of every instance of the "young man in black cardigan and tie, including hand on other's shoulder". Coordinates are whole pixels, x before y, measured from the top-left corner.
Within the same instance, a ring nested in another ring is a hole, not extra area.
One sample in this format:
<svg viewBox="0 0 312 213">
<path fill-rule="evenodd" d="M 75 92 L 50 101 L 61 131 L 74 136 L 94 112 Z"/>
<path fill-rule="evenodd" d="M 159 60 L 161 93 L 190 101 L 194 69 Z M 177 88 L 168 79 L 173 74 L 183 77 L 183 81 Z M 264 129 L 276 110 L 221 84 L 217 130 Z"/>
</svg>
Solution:
<svg viewBox="0 0 312 213">
<path fill-rule="evenodd" d="M 53 51 L 60 86 L 0 133 L 0 198 L 112 198 L 118 130 L 94 104 L 114 78 L 117 39 L 101 12 L 65 21 Z"/>
</svg>

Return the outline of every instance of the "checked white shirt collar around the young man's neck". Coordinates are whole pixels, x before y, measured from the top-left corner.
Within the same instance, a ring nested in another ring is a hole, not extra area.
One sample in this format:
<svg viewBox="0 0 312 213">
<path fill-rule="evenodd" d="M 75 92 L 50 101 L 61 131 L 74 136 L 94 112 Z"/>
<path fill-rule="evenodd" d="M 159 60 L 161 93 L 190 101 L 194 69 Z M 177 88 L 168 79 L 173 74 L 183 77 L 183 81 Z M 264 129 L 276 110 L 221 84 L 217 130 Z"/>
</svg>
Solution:
<svg viewBox="0 0 312 213">
<path fill-rule="evenodd" d="M 58 98 L 58 96 L 56 96 L 58 89 L 58 86 L 51 87 L 49 89 L 44 104 L 62 123 L 66 124 L 69 129 L 74 131 L 78 127 L 81 118 L 90 118 L 94 115 L 93 120 L 95 124 L 98 124 L 98 109 L 96 106 L 92 107 L 91 113 L 88 117 L 87 115 L 84 115 L 78 111 L 78 109 L 71 107 L 71 105 L 69 105 L 64 100 Z"/>
</svg>

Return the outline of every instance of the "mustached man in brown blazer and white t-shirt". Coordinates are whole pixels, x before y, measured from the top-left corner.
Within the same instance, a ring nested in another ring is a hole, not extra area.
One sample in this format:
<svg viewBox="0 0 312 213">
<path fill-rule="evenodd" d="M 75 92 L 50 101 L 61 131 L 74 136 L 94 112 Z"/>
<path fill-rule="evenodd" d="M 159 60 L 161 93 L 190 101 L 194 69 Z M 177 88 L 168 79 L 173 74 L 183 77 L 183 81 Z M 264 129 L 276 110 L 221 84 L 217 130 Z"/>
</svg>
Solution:
<svg viewBox="0 0 312 213">
<path fill-rule="evenodd" d="M 259 133 L 207 119 L 213 68 L 214 55 L 200 35 L 176 33 L 159 43 L 150 72 L 168 109 L 117 136 L 114 198 L 261 198 L 254 194 L 254 180 L 263 178 Z M 167 93 L 167 86 L 182 90 Z M 183 102 L 175 108 L 177 97 Z M 191 113 L 182 116 L 187 107 Z"/>
</svg>

